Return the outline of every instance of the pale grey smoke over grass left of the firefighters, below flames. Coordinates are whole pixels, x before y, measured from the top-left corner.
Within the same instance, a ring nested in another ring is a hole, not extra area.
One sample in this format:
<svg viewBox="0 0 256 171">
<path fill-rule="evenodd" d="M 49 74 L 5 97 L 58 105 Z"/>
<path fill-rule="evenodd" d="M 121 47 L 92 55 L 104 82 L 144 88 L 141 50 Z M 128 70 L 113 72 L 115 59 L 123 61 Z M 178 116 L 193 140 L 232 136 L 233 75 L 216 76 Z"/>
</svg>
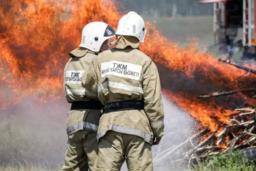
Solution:
<svg viewBox="0 0 256 171">
<path fill-rule="evenodd" d="M 0 165 L 62 165 L 69 107 L 65 99 L 42 103 L 28 97 L 0 110 Z"/>
</svg>

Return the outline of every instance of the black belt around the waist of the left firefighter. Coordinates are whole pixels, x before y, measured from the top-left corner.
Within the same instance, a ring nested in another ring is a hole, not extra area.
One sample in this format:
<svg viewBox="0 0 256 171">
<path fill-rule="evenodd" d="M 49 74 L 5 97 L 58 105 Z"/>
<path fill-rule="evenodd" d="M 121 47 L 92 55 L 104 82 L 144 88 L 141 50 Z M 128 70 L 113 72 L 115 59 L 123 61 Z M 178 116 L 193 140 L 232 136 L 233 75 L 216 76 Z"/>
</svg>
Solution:
<svg viewBox="0 0 256 171">
<path fill-rule="evenodd" d="M 79 110 L 79 109 L 95 109 L 101 110 L 103 105 L 100 101 L 90 100 L 90 101 L 75 101 L 72 102 L 70 110 Z"/>
</svg>

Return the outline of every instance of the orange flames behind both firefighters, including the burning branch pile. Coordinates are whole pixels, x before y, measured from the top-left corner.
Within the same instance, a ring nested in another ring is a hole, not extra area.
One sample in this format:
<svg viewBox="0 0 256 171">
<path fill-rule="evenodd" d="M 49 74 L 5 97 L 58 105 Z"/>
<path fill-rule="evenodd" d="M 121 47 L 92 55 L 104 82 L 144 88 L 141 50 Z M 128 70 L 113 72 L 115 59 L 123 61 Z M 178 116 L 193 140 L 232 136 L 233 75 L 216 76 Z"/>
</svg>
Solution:
<svg viewBox="0 0 256 171">
<path fill-rule="evenodd" d="M 67 54 L 80 44 L 84 25 L 102 21 L 116 28 L 123 16 L 117 12 L 120 8 L 112 0 L 0 0 L 0 110 L 22 103 L 25 96 L 36 96 L 41 103 L 64 98 Z M 193 41 L 178 48 L 149 22 L 146 26 L 140 49 L 158 66 L 162 93 L 194 117 L 200 128 L 180 145 L 166 149 L 165 155 L 189 144 L 182 160 L 191 162 L 253 146 L 253 70 L 201 53 Z M 255 70 L 256 64 L 244 67 Z M 215 93 L 203 96 L 209 92 Z"/>
</svg>

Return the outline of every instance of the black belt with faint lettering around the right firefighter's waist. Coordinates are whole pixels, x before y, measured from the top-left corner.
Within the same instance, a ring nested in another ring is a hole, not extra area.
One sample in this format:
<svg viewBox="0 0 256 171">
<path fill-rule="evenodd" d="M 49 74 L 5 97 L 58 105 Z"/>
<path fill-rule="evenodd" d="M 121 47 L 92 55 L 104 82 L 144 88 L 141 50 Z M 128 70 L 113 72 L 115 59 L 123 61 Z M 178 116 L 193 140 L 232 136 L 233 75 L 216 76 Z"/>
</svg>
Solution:
<svg viewBox="0 0 256 171">
<path fill-rule="evenodd" d="M 114 112 L 115 110 L 130 108 L 128 110 L 144 110 L 144 101 L 124 100 L 107 103 L 104 106 L 103 113 Z"/>
</svg>

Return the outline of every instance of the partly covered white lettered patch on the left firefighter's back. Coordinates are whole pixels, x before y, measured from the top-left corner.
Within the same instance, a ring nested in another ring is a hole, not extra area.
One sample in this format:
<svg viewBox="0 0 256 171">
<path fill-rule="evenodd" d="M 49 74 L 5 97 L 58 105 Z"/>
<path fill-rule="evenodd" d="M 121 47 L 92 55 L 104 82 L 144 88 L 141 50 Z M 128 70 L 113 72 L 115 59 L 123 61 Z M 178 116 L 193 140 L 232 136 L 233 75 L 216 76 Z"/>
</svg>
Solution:
<svg viewBox="0 0 256 171">
<path fill-rule="evenodd" d="M 85 70 L 67 70 L 65 73 L 65 84 L 82 84 L 82 74 Z"/>
</svg>

